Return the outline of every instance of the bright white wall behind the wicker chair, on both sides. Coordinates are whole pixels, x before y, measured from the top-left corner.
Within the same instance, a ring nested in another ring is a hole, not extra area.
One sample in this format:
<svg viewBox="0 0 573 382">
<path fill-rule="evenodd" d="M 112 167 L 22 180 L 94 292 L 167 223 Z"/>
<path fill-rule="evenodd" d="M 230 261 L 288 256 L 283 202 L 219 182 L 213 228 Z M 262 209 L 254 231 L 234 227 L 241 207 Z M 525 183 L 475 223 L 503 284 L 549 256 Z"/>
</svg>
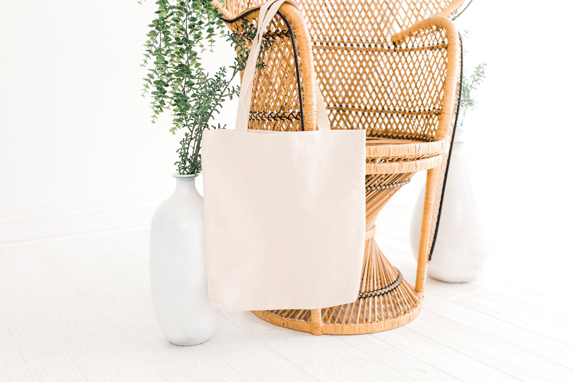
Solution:
<svg viewBox="0 0 573 382">
<path fill-rule="evenodd" d="M 147 210 L 119 223 L 113 214 L 101 215 L 94 229 L 143 224 L 170 194 L 178 138 L 168 133 L 168 119 L 149 123 L 149 99 L 139 96 L 142 44 L 154 7 L 135 0 L 3 6 L 0 228 L 21 220 L 14 229 L 21 230 L 30 213 L 45 211 L 45 218 L 131 204 Z M 466 129 L 496 259 L 490 272 L 500 277 L 523 275 L 522 262 L 548 263 L 551 272 L 571 265 L 571 8 L 567 1 L 476 0 L 456 21 L 472 29 L 465 65 L 488 62 L 480 105 Z M 233 116 L 234 107 L 226 107 L 223 117 Z M 392 203 L 410 206 L 422 178 Z M 410 215 L 409 207 L 401 208 Z M 525 274 L 522 281 L 539 277 Z"/>
</svg>

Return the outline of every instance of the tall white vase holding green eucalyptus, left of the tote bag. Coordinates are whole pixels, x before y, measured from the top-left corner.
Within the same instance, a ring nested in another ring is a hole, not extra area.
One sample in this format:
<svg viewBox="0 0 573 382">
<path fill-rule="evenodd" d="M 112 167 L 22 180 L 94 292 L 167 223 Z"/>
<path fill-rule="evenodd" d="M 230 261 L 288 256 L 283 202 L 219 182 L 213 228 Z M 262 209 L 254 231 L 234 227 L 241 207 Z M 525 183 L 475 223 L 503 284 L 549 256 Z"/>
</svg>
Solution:
<svg viewBox="0 0 573 382">
<path fill-rule="evenodd" d="M 195 175 L 173 175 L 175 192 L 151 220 L 151 294 L 159 329 L 175 345 L 205 342 L 221 312 L 207 295 L 203 198 Z"/>
</svg>

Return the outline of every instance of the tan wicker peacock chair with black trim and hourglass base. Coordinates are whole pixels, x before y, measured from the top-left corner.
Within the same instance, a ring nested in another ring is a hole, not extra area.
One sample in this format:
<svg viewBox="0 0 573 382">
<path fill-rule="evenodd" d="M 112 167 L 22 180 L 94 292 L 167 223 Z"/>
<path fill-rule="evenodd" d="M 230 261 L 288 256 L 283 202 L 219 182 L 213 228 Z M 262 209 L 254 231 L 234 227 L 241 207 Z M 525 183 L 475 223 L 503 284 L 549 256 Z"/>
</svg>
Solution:
<svg viewBox="0 0 573 382">
<path fill-rule="evenodd" d="M 257 22 L 263 2 L 227 0 L 222 7 L 214 0 L 238 34 L 245 23 Z M 254 80 L 249 128 L 316 129 L 316 76 L 332 129 L 367 131 L 366 246 L 356 301 L 254 312 L 258 317 L 312 334 L 359 334 L 396 328 L 418 315 L 461 82 L 460 39 L 448 16 L 462 3 L 300 0 L 300 10 L 280 7 L 265 34 L 272 44 Z M 374 241 L 374 222 L 391 196 L 422 170 L 426 199 L 411 286 Z"/>
</svg>

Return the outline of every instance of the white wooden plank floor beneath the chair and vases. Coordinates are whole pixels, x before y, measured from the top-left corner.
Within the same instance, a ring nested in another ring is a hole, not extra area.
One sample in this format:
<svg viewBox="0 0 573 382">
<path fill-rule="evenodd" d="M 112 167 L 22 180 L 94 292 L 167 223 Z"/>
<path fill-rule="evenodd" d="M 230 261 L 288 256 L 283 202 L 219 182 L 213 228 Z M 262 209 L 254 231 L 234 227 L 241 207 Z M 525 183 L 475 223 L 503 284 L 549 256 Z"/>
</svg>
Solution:
<svg viewBox="0 0 573 382">
<path fill-rule="evenodd" d="M 387 332 L 312 336 L 224 312 L 209 341 L 171 345 L 147 243 L 136 229 L 0 246 L 0 381 L 573 381 L 573 305 L 485 278 L 430 279 L 418 318 Z M 399 247 L 383 249 L 413 280 Z"/>
</svg>

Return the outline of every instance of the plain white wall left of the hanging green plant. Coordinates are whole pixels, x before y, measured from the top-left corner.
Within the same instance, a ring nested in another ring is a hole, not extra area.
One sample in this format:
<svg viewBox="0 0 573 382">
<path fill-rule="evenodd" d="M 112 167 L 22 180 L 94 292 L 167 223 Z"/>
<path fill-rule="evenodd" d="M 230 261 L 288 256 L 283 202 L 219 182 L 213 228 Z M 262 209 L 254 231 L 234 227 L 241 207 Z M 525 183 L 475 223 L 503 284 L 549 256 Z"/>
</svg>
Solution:
<svg viewBox="0 0 573 382">
<path fill-rule="evenodd" d="M 168 132 L 168 115 L 150 123 L 150 99 L 140 96 L 155 9 L 155 1 L 135 0 L 3 4 L 0 242 L 30 219 L 64 214 L 72 219 L 66 227 L 84 225 L 70 216 L 126 206 L 152 211 L 172 192 L 180 137 Z M 231 62 L 226 51 L 219 62 Z M 116 224 L 148 223 L 147 215 Z M 102 216 L 86 229 L 103 229 L 108 218 L 120 219 Z M 17 238 L 6 240 L 33 236 L 11 234 Z"/>
</svg>

